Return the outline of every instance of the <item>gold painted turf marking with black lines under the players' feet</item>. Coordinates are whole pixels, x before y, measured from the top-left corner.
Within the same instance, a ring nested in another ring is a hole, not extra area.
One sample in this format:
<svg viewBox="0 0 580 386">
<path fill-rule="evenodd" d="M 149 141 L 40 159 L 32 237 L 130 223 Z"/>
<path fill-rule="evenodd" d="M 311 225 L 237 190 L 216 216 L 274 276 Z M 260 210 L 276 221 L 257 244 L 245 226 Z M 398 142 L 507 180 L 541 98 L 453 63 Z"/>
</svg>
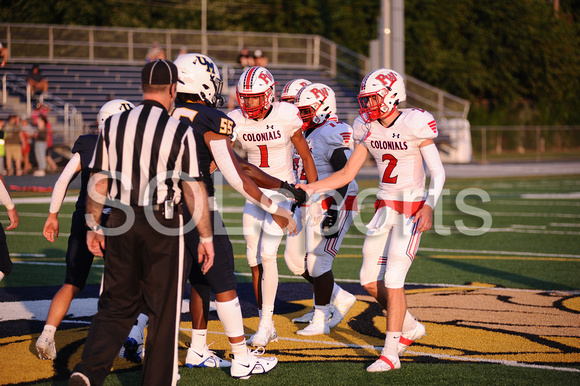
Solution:
<svg viewBox="0 0 580 386">
<path fill-rule="evenodd" d="M 547 365 L 577 366 L 580 363 L 576 314 L 550 306 L 561 301 L 565 308 L 578 310 L 580 296 L 567 299 L 566 294 L 545 291 L 524 295 L 518 290 L 482 288 L 485 286 L 485 283 L 476 283 L 474 286 L 406 291 L 410 311 L 425 324 L 427 335 L 413 344 L 401 361 L 412 362 L 415 356 L 423 356 L 433 360 L 578 371 L 573 367 L 558 369 Z M 500 301 L 498 295 L 511 301 Z M 267 354 L 278 357 L 282 365 L 304 360 L 372 362 L 384 344 L 381 334 L 386 330 L 385 317 L 381 311 L 377 313 L 380 307 L 372 297 L 357 296 L 357 300 L 345 320 L 329 335 L 311 337 L 297 335 L 296 331 L 306 324 L 293 324 L 291 320 L 304 314 L 311 307 L 312 299 L 292 302 L 302 309 L 274 315 L 279 340 L 268 344 Z M 360 324 L 363 314 L 371 318 L 366 328 Z M 258 324 L 258 317 L 244 319 L 247 337 L 256 331 Z M 374 328 L 375 333 L 363 332 L 368 326 Z M 191 322 L 182 322 L 180 329 L 179 362 L 184 365 L 191 342 Z M 88 325 L 56 332 L 58 355 L 67 363 L 69 371 L 80 361 L 87 332 Z M 0 363 L 3 368 L 11 369 L 3 372 L 0 385 L 50 381 L 60 375 L 52 361 L 37 358 L 37 338 L 38 334 L 25 334 L 0 339 Z M 231 354 L 223 325 L 217 320 L 208 323 L 208 344 L 221 357 L 228 358 Z M 121 370 L 136 366 L 117 358 L 113 367 Z"/>
</svg>

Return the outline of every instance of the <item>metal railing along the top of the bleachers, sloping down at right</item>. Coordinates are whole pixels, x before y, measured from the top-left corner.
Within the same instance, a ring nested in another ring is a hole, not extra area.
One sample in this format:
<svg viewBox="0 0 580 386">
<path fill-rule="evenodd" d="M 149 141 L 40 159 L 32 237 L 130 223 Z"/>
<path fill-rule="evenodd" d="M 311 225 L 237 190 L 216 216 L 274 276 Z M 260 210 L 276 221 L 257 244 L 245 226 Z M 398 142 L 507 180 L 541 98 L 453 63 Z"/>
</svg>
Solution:
<svg viewBox="0 0 580 386">
<path fill-rule="evenodd" d="M 260 49 L 268 67 L 323 70 L 357 88 L 371 71 L 368 57 L 319 35 L 0 23 L 0 41 L 15 62 L 141 65 L 157 42 L 169 59 L 185 46 L 229 66 L 242 48 Z M 467 117 L 468 101 L 410 76 L 406 84 L 409 106 L 437 118 Z"/>
</svg>

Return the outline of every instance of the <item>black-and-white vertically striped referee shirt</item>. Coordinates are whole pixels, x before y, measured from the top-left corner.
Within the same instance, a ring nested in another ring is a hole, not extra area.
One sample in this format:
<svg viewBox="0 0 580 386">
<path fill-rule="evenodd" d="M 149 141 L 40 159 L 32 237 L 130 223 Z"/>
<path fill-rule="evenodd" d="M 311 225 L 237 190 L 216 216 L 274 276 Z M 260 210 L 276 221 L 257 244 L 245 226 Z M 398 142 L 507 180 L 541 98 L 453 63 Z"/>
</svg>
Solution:
<svg viewBox="0 0 580 386">
<path fill-rule="evenodd" d="M 172 197 L 179 203 L 179 180 L 199 176 L 193 130 L 145 100 L 105 121 L 89 168 L 110 173 L 110 200 L 149 206 Z"/>
</svg>

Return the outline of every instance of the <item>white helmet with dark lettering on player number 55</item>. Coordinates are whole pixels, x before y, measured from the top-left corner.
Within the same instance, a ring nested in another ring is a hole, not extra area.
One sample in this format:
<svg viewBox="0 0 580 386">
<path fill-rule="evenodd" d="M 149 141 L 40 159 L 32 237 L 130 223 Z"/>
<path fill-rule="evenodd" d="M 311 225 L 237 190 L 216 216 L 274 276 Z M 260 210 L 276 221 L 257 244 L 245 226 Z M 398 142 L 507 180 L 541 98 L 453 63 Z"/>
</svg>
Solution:
<svg viewBox="0 0 580 386">
<path fill-rule="evenodd" d="M 220 71 L 209 56 L 185 54 L 175 60 L 179 79 L 177 92 L 197 95 L 209 107 L 223 104 L 223 82 Z"/>
</svg>

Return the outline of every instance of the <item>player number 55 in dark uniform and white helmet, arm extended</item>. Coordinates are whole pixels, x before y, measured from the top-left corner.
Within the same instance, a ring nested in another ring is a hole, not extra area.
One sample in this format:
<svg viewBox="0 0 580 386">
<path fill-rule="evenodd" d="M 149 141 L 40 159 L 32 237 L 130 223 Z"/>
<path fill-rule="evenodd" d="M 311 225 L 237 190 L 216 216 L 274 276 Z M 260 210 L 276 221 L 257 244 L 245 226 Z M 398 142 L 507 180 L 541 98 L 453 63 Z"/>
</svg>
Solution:
<svg viewBox="0 0 580 386">
<path fill-rule="evenodd" d="M 202 274 L 194 261 L 189 275 L 191 283 L 190 313 L 192 317 L 191 347 L 187 351 L 188 367 L 230 367 L 234 378 L 248 378 L 253 374 L 272 370 L 275 357 L 258 357 L 250 352 L 244 337 L 244 324 L 234 276 L 234 254 L 222 218 L 217 211 L 214 185 L 210 169 L 212 162 L 220 169 L 228 183 L 249 202 L 268 212 L 279 227 L 295 231 L 292 214 L 266 197 L 256 183 L 243 171 L 231 147 L 234 122 L 216 108 L 223 103 L 222 81 L 215 63 L 202 54 L 186 54 L 175 61 L 178 69 L 177 100 L 172 115 L 187 122 L 194 130 L 201 180 L 204 181 L 214 230 L 216 250 L 214 264 Z M 253 168 L 252 177 L 270 188 L 288 186 L 280 180 Z M 197 246 L 199 234 L 193 230 L 186 235 L 187 249 Z M 196 251 L 189 251 L 191 256 Z M 215 292 L 218 317 L 224 325 L 234 358 L 223 360 L 207 347 L 207 322 L 210 289 Z"/>
</svg>

